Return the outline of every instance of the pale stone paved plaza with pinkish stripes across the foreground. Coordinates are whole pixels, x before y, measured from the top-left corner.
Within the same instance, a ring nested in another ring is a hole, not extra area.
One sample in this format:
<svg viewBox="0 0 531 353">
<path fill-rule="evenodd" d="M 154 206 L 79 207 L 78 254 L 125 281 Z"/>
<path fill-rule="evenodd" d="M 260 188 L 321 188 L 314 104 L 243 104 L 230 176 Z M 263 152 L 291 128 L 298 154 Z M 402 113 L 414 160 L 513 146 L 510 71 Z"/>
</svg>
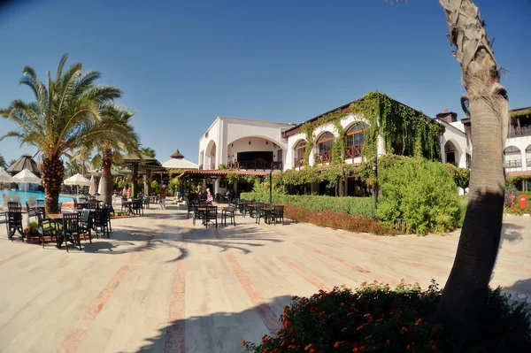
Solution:
<svg viewBox="0 0 531 353">
<path fill-rule="evenodd" d="M 363 280 L 446 280 L 458 233 L 381 237 L 289 223 L 192 225 L 186 211 L 113 220 L 83 251 L 0 227 L 0 352 L 239 352 L 292 295 Z M 531 293 L 531 218 L 507 217 L 493 284 Z"/>
</svg>

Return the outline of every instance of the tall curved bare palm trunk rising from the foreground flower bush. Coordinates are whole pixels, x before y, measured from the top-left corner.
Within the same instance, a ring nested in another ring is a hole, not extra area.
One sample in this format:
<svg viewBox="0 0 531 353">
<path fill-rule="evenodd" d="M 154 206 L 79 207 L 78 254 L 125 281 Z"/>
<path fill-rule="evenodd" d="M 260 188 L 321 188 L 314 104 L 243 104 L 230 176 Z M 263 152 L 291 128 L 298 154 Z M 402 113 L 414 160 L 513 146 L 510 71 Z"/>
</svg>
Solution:
<svg viewBox="0 0 531 353">
<path fill-rule="evenodd" d="M 501 237 L 509 105 L 478 8 L 471 0 L 440 3 L 463 72 L 473 158 L 465 223 L 435 319 L 451 334 L 465 337 L 485 303 Z"/>
</svg>

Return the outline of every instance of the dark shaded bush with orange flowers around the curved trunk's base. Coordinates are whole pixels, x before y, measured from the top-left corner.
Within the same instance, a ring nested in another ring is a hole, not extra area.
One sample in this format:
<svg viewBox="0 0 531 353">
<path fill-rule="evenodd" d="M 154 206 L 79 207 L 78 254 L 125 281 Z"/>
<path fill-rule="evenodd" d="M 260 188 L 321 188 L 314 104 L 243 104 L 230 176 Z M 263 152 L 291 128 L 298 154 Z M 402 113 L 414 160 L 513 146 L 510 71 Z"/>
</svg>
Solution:
<svg viewBox="0 0 531 353">
<path fill-rule="evenodd" d="M 281 315 L 275 337 L 257 344 L 242 341 L 248 351 L 273 352 L 453 352 L 456 342 L 430 319 L 442 295 L 432 281 L 427 290 L 404 280 L 362 283 L 354 290 L 320 290 L 310 298 L 294 296 Z M 473 331 L 460 347 L 467 352 L 531 351 L 531 319 L 525 304 L 511 304 L 500 288 L 489 295 Z"/>
</svg>

